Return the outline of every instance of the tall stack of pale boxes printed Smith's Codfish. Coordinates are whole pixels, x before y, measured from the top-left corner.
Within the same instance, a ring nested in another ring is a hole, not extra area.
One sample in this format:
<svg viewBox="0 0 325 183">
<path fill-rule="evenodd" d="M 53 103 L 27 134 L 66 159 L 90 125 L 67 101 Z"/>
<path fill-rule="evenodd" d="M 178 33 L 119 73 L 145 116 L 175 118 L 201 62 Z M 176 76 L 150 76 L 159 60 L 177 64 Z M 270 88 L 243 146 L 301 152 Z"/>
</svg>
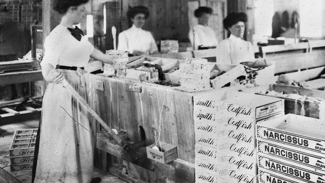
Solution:
<svg viewBox="0 0 325 183">
<path fill-rule="evenodd" d="M 255 123 L 284 115 L 284 101 L 218 90 L 194 96 L 197 183 L 256 183 Z"/>
</svg>

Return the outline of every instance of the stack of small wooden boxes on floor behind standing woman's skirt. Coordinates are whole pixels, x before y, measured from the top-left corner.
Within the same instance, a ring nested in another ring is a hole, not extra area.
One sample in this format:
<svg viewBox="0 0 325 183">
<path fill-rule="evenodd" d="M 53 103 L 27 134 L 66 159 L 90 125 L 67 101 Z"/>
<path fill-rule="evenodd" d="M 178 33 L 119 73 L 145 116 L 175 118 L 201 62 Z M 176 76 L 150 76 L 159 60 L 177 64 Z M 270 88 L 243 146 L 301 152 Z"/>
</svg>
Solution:
<svg viewBox="0 0 325 183">
<path fill-rule="evenodd" d="M 34 148 L 37 128 L 18 129 L 9 147 L 10 170 L 31 170 L 34 161 Z"/>
</svg>

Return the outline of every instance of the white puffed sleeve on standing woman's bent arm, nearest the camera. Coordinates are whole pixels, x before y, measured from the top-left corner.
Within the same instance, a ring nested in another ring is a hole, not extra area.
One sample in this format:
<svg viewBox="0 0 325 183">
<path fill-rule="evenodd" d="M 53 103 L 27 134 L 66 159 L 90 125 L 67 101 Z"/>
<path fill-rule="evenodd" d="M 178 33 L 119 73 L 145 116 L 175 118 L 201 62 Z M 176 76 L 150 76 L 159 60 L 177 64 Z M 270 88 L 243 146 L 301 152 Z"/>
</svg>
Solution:
<svg viewBox="0 0 325 183">
<path fill-rule="evenodd" d="M 51 64 L 54 68 L 56 67 L 59 57 L 66 47 L 66 42 L 63 40 L 62 33 L 54 32 L 45 38 L 44 42 L 44 57 L 40 63 L 41 66 L 44 64 Z"/>
</svg>

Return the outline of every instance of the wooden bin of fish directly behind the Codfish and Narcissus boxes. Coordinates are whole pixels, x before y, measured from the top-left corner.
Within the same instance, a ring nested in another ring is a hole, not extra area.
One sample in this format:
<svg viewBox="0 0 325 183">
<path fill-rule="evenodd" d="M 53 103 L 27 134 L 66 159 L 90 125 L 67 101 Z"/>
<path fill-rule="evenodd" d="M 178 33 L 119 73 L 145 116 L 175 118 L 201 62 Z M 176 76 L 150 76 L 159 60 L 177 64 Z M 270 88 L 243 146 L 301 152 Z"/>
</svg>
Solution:
<svg viewBox="0 0 325 183">
<path fill-rule="evenodd" d="M 244 89 L 243 91 L 285 99 L 286 114 L 293 113 L 317 119 L 325 119 L 325 91 L 276 84 Z M 283 92 L 284 94 L 294 94 L 298 92 L 302 96 L 300 99 L 296 100 L 286 96 L 265 94 L 265 91 Z M 304 98 L 304 95 L 307 95 L 307 98 Z M 319 100 L 310 97 L 319 98 Z"/>
</svg>

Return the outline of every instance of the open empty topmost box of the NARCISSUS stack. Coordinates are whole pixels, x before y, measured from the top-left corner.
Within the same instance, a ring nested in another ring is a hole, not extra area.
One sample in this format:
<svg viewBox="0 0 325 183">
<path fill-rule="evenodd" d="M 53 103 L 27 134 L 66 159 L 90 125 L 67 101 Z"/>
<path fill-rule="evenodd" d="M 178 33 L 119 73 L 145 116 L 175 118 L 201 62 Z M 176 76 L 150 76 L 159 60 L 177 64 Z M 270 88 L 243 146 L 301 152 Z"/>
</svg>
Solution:
<svg viewBox="0 0 325 183">
<path fill-rule="evenodd" d="M 325 125 L 322 120 L 286 114 L 256 124 L 256 137 L 325 154 Z"/>
</svg>

